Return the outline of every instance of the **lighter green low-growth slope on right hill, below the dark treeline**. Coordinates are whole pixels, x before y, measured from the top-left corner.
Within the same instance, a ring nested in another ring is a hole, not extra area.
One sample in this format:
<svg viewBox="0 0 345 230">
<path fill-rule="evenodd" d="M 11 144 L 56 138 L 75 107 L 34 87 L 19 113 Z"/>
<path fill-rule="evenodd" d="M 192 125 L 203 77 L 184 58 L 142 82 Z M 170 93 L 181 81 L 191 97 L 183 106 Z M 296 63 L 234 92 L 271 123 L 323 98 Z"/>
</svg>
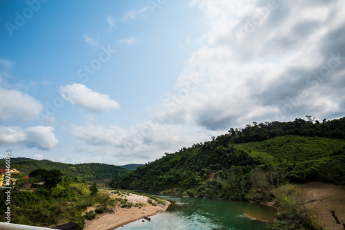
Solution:
<svg viewBox="0 0 345 230">
<path fill-rule="evenodd" d="M 283 167 L 293 182 L 345 184 L 345 140 L 288 135 L 235 146 L 262 164 Z"/>
</svg>

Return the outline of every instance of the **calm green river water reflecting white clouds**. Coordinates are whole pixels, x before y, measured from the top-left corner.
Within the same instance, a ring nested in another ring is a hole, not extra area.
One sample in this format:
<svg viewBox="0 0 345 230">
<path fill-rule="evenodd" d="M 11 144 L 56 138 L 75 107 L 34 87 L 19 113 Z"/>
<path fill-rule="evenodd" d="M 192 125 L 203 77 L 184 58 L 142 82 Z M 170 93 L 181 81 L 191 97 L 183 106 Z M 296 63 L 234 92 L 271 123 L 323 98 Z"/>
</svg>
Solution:
<svg viewBox="0 0 345 230">
<path fill-rule="evenodd" d="M 172 203 L 166 211 L 152 216 L 150 222 L 138 220 L 119 229 L 263 230 L 270 229 L 270 222 L 275 220 L 275 209 L 262 204 L 177 195 L 159 195 L 159 198 Z"/>
</svg>

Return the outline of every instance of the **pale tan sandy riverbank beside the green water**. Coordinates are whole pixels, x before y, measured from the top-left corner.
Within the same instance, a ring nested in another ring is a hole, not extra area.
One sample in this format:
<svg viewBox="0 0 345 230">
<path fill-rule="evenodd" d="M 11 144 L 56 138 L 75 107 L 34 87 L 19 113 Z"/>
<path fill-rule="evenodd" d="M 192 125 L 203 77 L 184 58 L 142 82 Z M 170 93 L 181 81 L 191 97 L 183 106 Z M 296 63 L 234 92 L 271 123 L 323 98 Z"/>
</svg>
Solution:
<svg viewBox="0 0 345 230">
<path fill-rule="evenodd" d="M 111 194 L 111 198 L 122 198 L 119 195 Z M 121 208 L 115 207 L 113 210 L 114 213 L 104 213 L 102 215 L 97 216 L 95 220 L 89 220 L 86 222 L 84 230 L 112 230 L 116 229 L 117 227 L 121 227 L 125 224 L 130 222 L 134 222 L 136 220 L 141 220 L 144 216 L 152 216 L 156 215 L 157 213 L 164 211 L 168 208 L 170 202 L 166 202 L 166 205 L 157 205 L 153 206 L 152 204 L 148 203 L 148 198 L 142 195 L 130 194 L 127 195 L 126 199 L 128 202 L 132 202 L 133 204 L 145 204 L 146 207 L 131 207 L 128 208 Z"/>
</svg>

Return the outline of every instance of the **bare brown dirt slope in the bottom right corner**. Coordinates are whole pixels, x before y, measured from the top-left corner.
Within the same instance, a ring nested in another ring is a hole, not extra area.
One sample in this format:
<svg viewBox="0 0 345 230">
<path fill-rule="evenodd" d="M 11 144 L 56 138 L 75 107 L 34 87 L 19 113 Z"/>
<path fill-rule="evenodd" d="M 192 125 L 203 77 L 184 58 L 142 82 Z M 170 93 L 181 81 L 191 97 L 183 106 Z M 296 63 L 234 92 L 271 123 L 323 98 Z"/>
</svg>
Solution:
<svg viewBox="0 0 345 230">
<path fill-rule="evenodd" d="M 335 210 L 340 222 L 345 222 L 345 186 L 337 186 L 334 184 L 325 184 L 322 182 L 311 182 L 308 184 L 299 184 L 299 189 L 306 191 L 311 196 L 311 200 L 317 200 L 308 204 L 309 207 L 315 208 L 318 212 L 319 222 L 326 230 L 344 230 L 342 224 L 337 224 L 335 219 L 328 211 L 322 201 L 332 210 Z"/>
</svg>

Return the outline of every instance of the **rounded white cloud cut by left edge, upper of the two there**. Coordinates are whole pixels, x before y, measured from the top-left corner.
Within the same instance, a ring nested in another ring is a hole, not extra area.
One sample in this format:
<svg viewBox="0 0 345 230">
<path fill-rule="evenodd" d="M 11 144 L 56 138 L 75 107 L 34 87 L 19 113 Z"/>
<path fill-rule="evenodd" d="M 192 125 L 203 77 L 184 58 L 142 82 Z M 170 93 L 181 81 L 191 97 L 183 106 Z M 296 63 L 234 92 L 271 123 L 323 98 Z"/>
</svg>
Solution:
<svg viewBox="0 0 345 230">
<path fill-rule="evenodd" d="M 19 120 L 23 122 L 36 119 L 43 105 L 27 93 L 0 87 L 0 120 Z"/>
</svg>

